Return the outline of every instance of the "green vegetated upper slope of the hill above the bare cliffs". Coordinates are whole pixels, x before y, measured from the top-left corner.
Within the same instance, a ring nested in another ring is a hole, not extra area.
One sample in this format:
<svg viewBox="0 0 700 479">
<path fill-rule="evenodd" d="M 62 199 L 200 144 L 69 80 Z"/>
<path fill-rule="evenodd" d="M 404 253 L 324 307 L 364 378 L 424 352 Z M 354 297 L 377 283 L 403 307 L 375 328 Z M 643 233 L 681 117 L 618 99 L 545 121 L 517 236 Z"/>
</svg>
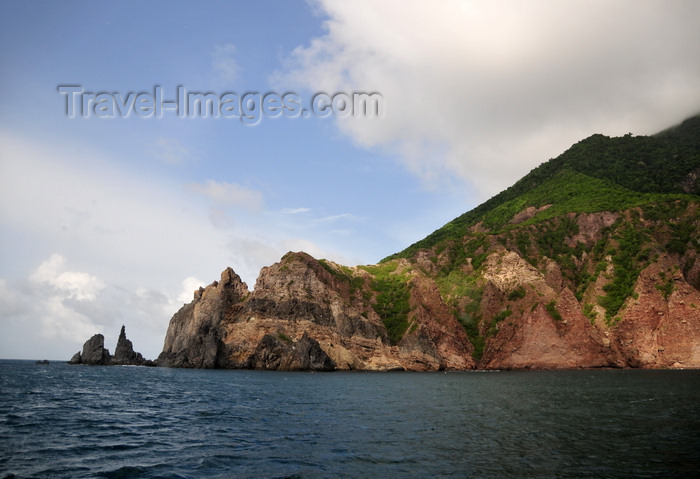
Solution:
<svg viewBox="0 0 700 479">
<path fill-rule="evenodd" d="M 566 213 L 619 211 L 634 206 L 646 206 L 649 211 L 654 206 L 664 209 L 663 205 L 677 200 L 697 198 L 699 175 L 700 115 L 653 136 L 610 138 L 596 134 L 382 261 L 410 258 L 421 249 L 462 238 L 479 223 L 492 232 L 508 229 L 514 215 L 528 207 L 542 210 L 524 224 Z"/>
</svg>

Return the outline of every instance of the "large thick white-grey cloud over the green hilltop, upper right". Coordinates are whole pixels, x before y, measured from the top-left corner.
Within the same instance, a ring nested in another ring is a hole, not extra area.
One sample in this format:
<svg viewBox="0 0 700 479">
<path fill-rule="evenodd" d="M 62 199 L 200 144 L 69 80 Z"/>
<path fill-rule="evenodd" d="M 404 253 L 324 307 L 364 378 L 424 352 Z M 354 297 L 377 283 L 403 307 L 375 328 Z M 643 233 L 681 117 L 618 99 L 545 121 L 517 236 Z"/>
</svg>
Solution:
<svg viewBox="0 0 700 479">
<path fill-rule="evenodd" d="M 319 0 L 327 33 L 274 81 L 379 92 L 382 119 L 338 121 L 432 186 L 498 193 L 600 132 L 654 133 L 700 111 L 700 3 Z"/>
</svg>

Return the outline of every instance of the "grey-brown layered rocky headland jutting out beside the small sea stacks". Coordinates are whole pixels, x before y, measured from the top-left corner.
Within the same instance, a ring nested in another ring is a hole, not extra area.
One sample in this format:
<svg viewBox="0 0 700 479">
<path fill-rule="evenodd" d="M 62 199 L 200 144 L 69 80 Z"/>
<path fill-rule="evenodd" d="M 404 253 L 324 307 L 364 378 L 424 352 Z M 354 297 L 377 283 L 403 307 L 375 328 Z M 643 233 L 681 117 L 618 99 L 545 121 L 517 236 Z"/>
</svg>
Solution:
<svg viewBox="0 0 700 479">
<path fill-rule="evenodd" d="M 410 288 L 410 328 L 392 342 L 372 275 L 288 253 L 248 294 L 236 276 L 195 293 L 173 316 L 159 365 L 264 369 L 436 370 L 474 366 L 470 344 L 434 285 Z M 209 306 L 202 307 L 203 301 Z M 434 313 L 434 314 L 431 314 Z M 408 320 L 407 320 L 408 322 Z"/>
</svg>

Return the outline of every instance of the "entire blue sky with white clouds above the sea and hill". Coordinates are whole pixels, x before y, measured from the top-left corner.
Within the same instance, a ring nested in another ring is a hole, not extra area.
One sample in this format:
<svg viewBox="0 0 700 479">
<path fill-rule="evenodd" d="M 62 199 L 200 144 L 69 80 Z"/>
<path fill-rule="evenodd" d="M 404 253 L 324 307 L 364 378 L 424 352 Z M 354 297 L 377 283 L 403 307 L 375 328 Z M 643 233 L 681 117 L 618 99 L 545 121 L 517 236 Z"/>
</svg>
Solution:
<svg viewBox="0 0 700 479">
<path fill-rule="evenodd" d="M 583 138 L 700 112 L 693 0 L 0 8 L 0 358 L 125 325 L 154 359 L 228 266 L 373 264 Z"/>
</svg>

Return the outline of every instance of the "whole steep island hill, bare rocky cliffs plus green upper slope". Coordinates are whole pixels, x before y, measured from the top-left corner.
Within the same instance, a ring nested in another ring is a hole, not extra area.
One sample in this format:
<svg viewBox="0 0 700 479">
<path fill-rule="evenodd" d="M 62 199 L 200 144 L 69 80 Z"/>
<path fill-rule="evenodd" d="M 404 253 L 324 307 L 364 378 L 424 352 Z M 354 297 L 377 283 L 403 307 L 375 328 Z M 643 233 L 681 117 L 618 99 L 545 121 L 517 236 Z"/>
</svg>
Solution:
<svg viewBox="0 0 700 479">
<path fill-rule="evenodd" d="M 378 265 L 227 269 L 160 365 L 700 367 L 700 117 L 593 135 Z"/>
</svg>

